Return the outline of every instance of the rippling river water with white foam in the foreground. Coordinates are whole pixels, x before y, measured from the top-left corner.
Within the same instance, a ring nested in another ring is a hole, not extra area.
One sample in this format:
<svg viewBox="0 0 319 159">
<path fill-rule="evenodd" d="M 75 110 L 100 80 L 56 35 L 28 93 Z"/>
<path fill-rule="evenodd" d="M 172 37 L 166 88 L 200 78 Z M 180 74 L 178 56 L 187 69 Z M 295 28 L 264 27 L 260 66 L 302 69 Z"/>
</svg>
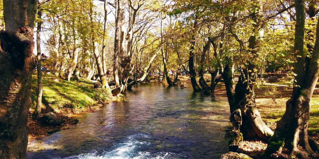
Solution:
<svg viewBox="0 0 319 159">
<path fill-rule="evenodd" d="M 225 98 L 140 84 L 67 130 L 28 145 L 27 159 L 220 158 L 228 151 Z"/>
</svg>

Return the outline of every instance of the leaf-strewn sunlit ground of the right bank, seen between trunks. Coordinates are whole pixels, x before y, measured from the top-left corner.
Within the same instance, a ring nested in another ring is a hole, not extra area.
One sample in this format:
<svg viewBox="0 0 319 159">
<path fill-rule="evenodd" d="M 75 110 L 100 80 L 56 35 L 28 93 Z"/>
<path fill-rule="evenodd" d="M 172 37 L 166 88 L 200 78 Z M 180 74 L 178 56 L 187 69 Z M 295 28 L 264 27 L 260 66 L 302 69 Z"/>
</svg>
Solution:
<svg viewBox="0 0 319 159">
<path fill-rule="evenodd" d="M 206 76 L 210 80 L 209 76 Z M 286 86 L 285 77 L 279 79 L 276 83 L 259 84 L 255 88 L 256 107 L 261 114 L 266 125 L 275 131 L 277 121 L 281 119 L 286 110 L 286 101 L 292 95 L 292 87 Z M 210 85 L 210 83 L 208 83 Z M 190 83 L 187 85 L 191 86 Z M 189 87 L 187 86 L 187 87 Z M 216 86 L 215 96 L 227 97 L 226 89 L 223 82 Z M 311 112 L 308 125 L 308 134 L 312 136 L 319 144 L 319 90 L 315 89 L 311 99 Z M 243 141 L 240 143 L 238 152 L 247 154 L 251 157 L 261 155 L 267 148 L 267 143 L 262 141 Z M 283 149 L 282 154 L 272 156 L 276 159 L 288 158 L 288 150 Z M 319 156 L 315 156 L 319 157 Z"/>
</svg>

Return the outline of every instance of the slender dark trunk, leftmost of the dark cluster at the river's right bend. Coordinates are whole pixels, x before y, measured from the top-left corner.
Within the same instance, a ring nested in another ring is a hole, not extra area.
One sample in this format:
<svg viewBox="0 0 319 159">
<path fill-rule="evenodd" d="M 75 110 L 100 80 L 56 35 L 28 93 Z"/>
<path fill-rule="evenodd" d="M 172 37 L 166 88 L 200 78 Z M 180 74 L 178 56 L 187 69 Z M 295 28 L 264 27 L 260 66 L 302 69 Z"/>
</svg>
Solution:
<svg viewBox="0 0 319 159">
<path fill-rule="evenodd" d="M 195 17 L 195 22 L 194 22 L 194 29 L 196 30 L 197 28 L 197 16 Z M 193 90 L 195 92 L 199 92 L 202 89 L 199 88 L 197 81 L 196 81 L 196 71 L 194 68 L 194 56 L 195 56 L 195 51 L 194 51 L 194 46 L 195 46 L 195 32 L 192 35 L 192 39 L 190 42 L 190 51 L 189 51 L 189 60 L 188 60 L 188 65 L 189 65 L 189 74 L 190 74 L 190 82 L 192 83 Z"/>
</svg>

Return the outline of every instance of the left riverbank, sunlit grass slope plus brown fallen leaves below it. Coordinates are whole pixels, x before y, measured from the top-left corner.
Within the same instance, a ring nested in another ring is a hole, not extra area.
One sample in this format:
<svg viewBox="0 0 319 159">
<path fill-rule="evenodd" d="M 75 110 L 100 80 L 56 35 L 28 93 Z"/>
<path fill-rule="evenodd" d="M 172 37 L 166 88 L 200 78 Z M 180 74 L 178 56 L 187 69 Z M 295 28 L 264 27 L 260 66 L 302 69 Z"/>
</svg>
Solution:
<svg viewBox="0 0 319 159">
<path fill-rule="evenodd" d="M 105 102 L 113 99 L 102 89 L 94 89 L 94 83 L 85 78 L 67 81 L 48 74 L 42 79 L 42 83 L 41 115 L 53 112 L 68 116 L 68 118 L 60 126 L 45 126 L 39 121 L 31 119 L 37 97 L 37 77 L 33 75 L 30 94 L 32 106 L 27 119 L 29 141 L 59 130 L 68 129 L 77 123 L 79 116 L 87 112 L 97 111 L 106 104 Z"/>
</svg>

